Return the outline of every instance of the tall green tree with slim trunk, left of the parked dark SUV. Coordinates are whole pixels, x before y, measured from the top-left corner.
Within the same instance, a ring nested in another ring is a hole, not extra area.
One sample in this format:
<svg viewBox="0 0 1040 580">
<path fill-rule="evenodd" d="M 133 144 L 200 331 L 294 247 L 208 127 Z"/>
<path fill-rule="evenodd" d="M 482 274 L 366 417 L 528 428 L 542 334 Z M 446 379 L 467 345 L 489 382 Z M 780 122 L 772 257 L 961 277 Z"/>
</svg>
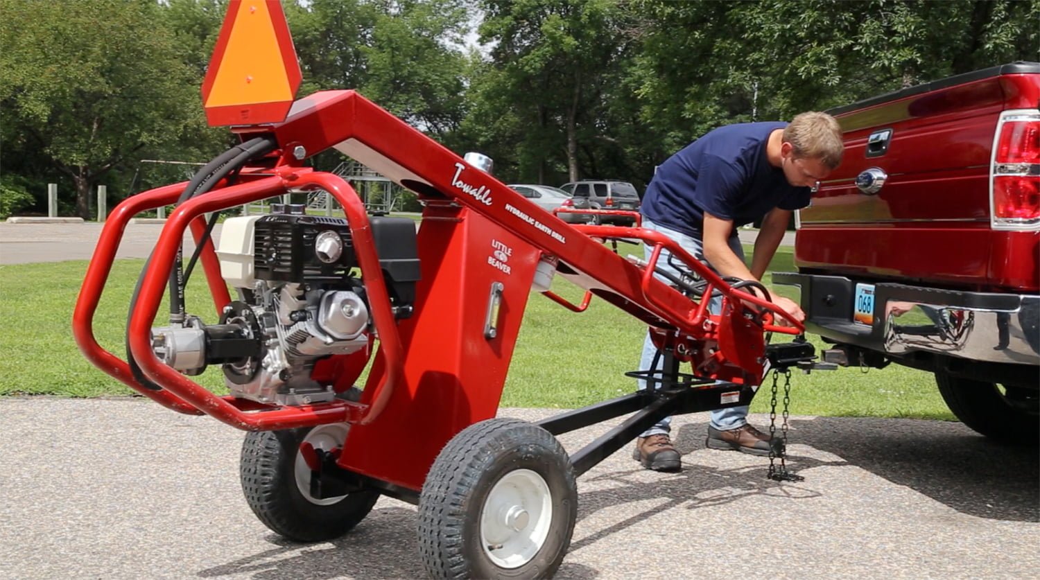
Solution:
<svg viewBox="0 0 1040 580">
<path fill-rule="evenodd" d="M 582 146 L 603 127 L 598 113 L 624 53 L 612 0 L 483 0 L 480 41 L 493 46 L 474 104 L 478 125 L 513 114 L 522 127 L 519 172 L 544 182 L 563 154 L 571 180 Z"/>
</svg>

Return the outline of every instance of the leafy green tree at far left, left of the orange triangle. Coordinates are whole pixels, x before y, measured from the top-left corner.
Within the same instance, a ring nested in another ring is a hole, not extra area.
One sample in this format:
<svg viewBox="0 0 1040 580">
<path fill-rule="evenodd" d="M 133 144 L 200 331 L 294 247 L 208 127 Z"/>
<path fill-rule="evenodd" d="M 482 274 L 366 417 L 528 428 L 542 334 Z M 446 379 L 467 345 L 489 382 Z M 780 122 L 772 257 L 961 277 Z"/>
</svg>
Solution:
<svg viewBox="0 0 1040 580">
<path fill-rule="evenodd" d="M 198 78 L 154 1 L 2 0 L 0 107 L 16 135 L 70 176 L 76 213 L 144 151 L 198 130 Z"/>
</svg>

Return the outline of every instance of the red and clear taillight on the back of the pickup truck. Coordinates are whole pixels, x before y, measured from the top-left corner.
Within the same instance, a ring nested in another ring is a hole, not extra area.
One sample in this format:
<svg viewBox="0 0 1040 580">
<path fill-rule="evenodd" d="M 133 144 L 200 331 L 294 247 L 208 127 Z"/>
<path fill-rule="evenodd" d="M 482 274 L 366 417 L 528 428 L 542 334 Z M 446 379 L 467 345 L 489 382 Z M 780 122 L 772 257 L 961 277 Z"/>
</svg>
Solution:
<svg viewBox="0 0 1040 580">
<path fill-rule="evenodd" d="M 989 191 L 993 229 L 1040 230 L 1040 112 L 1000 114 Z"/>
</svg>

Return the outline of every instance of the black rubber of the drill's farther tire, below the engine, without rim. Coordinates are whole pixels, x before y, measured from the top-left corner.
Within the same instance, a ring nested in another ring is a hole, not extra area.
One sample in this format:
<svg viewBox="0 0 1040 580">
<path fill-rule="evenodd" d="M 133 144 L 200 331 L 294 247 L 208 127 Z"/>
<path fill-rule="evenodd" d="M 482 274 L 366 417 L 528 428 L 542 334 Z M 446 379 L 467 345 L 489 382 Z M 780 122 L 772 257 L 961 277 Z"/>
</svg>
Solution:
<svg viewBox="0 0 1040 580">
<path fill-rule="evenodd" d="M 380 497 L 374 490 L 347 494 L 332 505 L 311 503 L 296 486 L 296 451 L 309 427 L 251 431 L 242 442 L 239 478 L 245 502 L 275 533 L 296 542 L 322 542 L 357 526 Z"/>
</svg>

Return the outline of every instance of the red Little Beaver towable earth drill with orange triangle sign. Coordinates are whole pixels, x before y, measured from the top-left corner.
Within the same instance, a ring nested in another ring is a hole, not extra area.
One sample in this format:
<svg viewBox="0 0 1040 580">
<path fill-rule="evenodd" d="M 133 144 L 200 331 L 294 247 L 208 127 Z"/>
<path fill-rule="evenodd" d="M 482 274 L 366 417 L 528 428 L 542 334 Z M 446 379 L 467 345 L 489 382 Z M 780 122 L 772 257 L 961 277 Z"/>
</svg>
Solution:
<svg viewBox="0 0 1040 580">
<path fill-rule="evenodd" d="M 277 1 L 233 0 L 213 63 L 207 114 L 240 144 L 191 181 L 115 208 L 73 327 L 95 365 L 141 395 L 249 431 L 242 487 L 279 534 L 339 536 L 385 494 L 418 504 L 435 577 L 551 576 L 574 527 L 577 475 L 661 417 L 747 404 L 766 364 L 811 364 L 808 343 L 766 345 L 770 333 L 800 334 L 799 323 L 775 323 L 784 313 L 742 290 L 749 283 L 722 280 L 660 234 L 565 223 L 353 90 L 293 102 L 300 69 Z M 369 216 L 346 181 L 305 166 L 330 148 L 418 194 L 418 233 L 411 219 Z M 204 214 L 317 190 L 345 216 L 234 217 L 218 248 L 210 240 L 216 214 Z M 94 314 L 129 219 L 172 204 L 131 299 L 124 360 L 98 344 Z M 197 251 L 185 268 L 188 229 Z M 609 239 L 653 253 L 625 258 Z M 658 271 L 665 249 L 685 275 Z M 184 310 L 197 261 L 210 322 Z M 551 292 L 553 275 L 586 289 L 582 304 Z M 170 322 L 157 326 L 167 286 Z M 496 419 L 532 291 L 576 312 L 595 295 L 639 318 L 664 370 L 628 373 L 647 379 L 645 391 L 537 424 Z M 708 296 L 722 297 L 721 314 Z M 229 395 L 192 380 L 209 365 L 222 367 Z M 629 414 L 572 455 L 553 437 Z"/>
</svg>

